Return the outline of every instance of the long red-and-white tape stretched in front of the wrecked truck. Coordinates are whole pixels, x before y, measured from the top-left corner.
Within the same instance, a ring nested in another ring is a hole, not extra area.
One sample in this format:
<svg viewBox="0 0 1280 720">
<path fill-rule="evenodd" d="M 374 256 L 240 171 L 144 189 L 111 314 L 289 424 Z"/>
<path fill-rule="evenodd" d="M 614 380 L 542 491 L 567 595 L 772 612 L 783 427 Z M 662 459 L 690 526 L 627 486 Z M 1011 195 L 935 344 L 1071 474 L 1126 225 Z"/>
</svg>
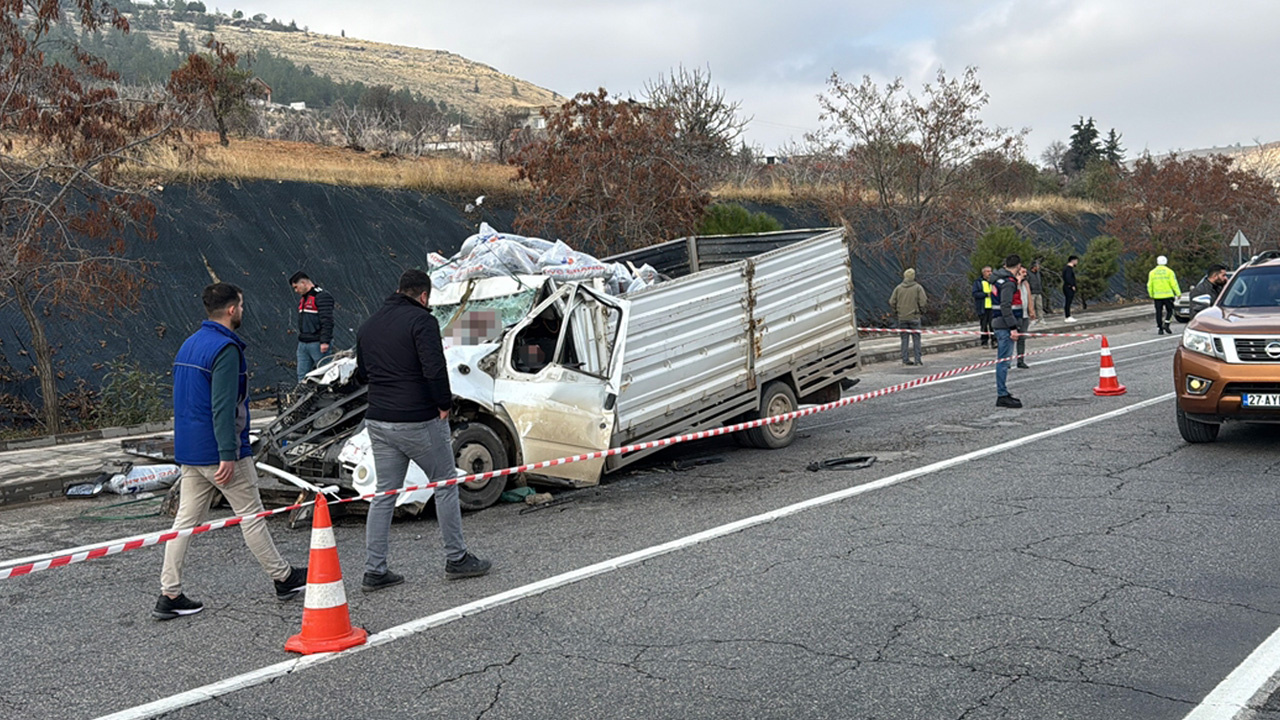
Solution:
<svg viewBox="0 0 1280 720">
<path fill-rule="evenodd" d="M 937 332 L 950 332 L 950 331 L 937 331 Z M 959 332 L 959 331 L 956 331 L 956 332 Z M 1075 337 L 1075 336 L 1070 336 L 1070 337 Z M 506 475 L 516 475 L 516 474 L 526 473 L 526 471 L 531 471 L 531 470 L 540 470 L 543 468 L 554 468 L 557 465 L 568 465 L 570 462 L 582 462 L 582 461 L 586 461 L 586 460 L 599 460 L 599 459 L 603 459 L 603 457 L 612 457 L 614 455 L 626 455 L 627 452 L 637 452 L 640 450 L 654 450 L 654 448 L 658 448 L 658 447 L 667 447 L 667 446 L 671 446 L 671 445 L 677 445 L 677 443 L 695 441 L 695 439 L 707 439 L 707 438 L 718 437 L 718 436 L 723 436 L 723 434 L 728 434 L 728 433 L 736 433 L 736 432 L 745 430 L 745 429 L 749 429 L 749 428 L 759 428 L 762 425 L 771 425 L 771 424 L 774 424 L 774 423 L 783 423 L 786 420 L 792 420 L 792 419 L 796 419 L 796 418 L 804 418 L 804 416 L 808 416 L 808 415 L 815 415 L 818 413 L 826 413 L 828 410 L 835 410 L 836 407 L 845 407 L 847 405 L 854 405 L 854 404 L 858 404 L 858 402 L 864 402 L 867 400 L 872 400 L 872 398 L 876 398 L 876 397 L 883 397 L 886 395 L 891 395 L 891 393 L 895 393 L 895 392 L 901 392 L 904 389 L 910 389 L 913 387 L 919 387 L 919 386 L 923 386 L 923 384 L 937 382 L 937 380 L 941 380 L 943 378 L 950 378 L 950 377 L 954 377 L 954 375 L 960 375 L 960 374 L 964 374 L 964 373 L 970 373 L 973 370 L 979 370 L 982 368 L 989 368 L 989 366 L 996 365 L 998 363 L 1012 363 L 1014 360 L 1019 360 L 1019 359 L 1023 359 L 1023 357 L 1029 357 L 1032 355 L 1041 355 L 1041 354 L 1044 354 L 1044 352 L 1053 352 L 1056 350 L 1062 350 L 1064 347 L 1071 347 L 1073 345 L 1080 345 L 1080 343 L 1087 342 L 1087 341 L 1089 341 L 1089 340 L 1092 340 L 1094 337 L 1100 337 L 1100 336 L 1084 336 L 1080 340 L 1075 340 L 1075 341 L 1071 341 L 1071 342 L 1065 342 L 1065 343 L 1061 343 L 1061 345 L 1055 345 L 1052 347 L 1044 347 L 1042 350 L 1034 350 L 1034 351 L 1030 351 L 1030 352 L 1024 352 L 1021 355 L 1015 355 L 1012 357 L 997 359 L 997 360 L 987 360 L 984 363 L 975 363 L 973 365 L 966 365 L 964 368 L 955 368 L 952 370 L 945 370 L 945 372 L 941 372 L 941 373 L 934 373 L 932 375 L 924 375 L 924 377 L 914 378 L 914 379 L 908 380 L 905 383 L 899 383 L 899 384 L 890 386 L 890 387 L 881 388 L 881 389 L 876 389 L 876 391 L 872 391 L 872 392 L 864 392 L 861 395 L 855 395 L 852 397 L 845 397 L 845 398 L 841 398 L 841 400 L 836 400 L 833 402 L 827 402 L 824 405 L 814 405 L 813 407 L 805 407 L 803 410 L 795 410 L 792 413 L 785 413 L 782 415 L 774 415 L 772 418 L 762 418 L 759 420 L 750 420 L 750 421 L 746 421 L 746 423 L 737 423 L 735 425 L 726 425 L 726 427 L 714 428 L 714 429 L 710 429 L 710 430 L 699 430 L 699 432 L 695 432 L 695 433 L 686 433 L 686 434 L 682 434 L 682 436 L 673 436 L 673 437 L 668 437 L 668 438 L 663 438 L 663 439 L 641 442 L 641 443 L 636 443 L 636 445 L 627 445 L 627 446 L 614 447 L 614 448 L 609 448 L 609 450 L 602 450 L 602 451 L 596 451 L 596 452 L 588 452 L 588 454 L 584 454 L 584 455 L 573 455 L 573 456 L 570 456 L 570 457 L 557 457 L 554 460 L 543 460 L 543 461 L 539 461 L 539 462 L 530 462 L 530 464 L 526 464 L 526 465 L 520 465 L 517 468 L 504 468 L 502 470 L 490 470 L 488 473 L 477 473 L 477 474 L 472 474 L 472 475 L 463 475 L 463 477 L 452 478 L 452 479 L 448 479 L 448 480 L 436 480 L 436 482 L 424 483 L 424 484 L 420 484 L 420 486 L 410 486 L 410 487 L 396 488 L 396 489 L 389 489 L 389 491 L 383 491 L 383 492 L 374 492 L 374 493 L 361 495 L 361 496 L 356 496 L 356 497 L 347 497 L 347 498 L 340 498 L 340 500 L 332 500 L 332 501 L 328 501 L 328 502 L 330 505 L 340 505 L 340 503 L 344 503 L 344 502 L 356 502 L 356 501 L 361 501 L 361 500 L 374 500 L 376 497 L 394 496 L 394 495 L 399 495 L 402 492 L 413 492 L 413 491 L 428 489 L 428 488 L 440 488 L 440 487 L 456 486 L 458 483 L 470 483 L 470 482 L 474 482 L 474 480 L 490 480 L 490 479 L 502 478 L 502 477 L 506 477 Z M 170 541 L 174 541 L 174 539 L 178 539 L 178 538 L 182 538 L 182 537 L 191 537 L 191 536 L 197 536 L 197 534 L 201 534 L 201 533 L 207 533 L 210 530 L 219 530 L 219 529 L 223 529 L 223 528 L 230 528 L 230 527 L 234 527 L 234 525 L 239 525 L 241 523 L 243 523 L 246 520 L 252 520 L 252 519 L 256 519 L 256 518 L 270 518 L 271 515 L 279 515 L 279 514 L 283 514 L 283 512 L 292 512 L 293 510 L 298 510 L 298 509 L 306 507 L 308 505 L 314 505 L 314 503 L 315 503 L 315 501 L 301 502 L 301 503 L 289 505 L 289 506 L 285 506 L 285 507 L 276 507 L 275 510 L 264 510 L 262 512 L 255 512 L 252 515 L 239 515 L 239 516 L 236 516 L 236 518 L 224 518 L 221 520 L 214 520 L 211 523 L 205 523 L 202 525 L 196 525 L 193 528 L 184 528 L 184 529 L 180 529 L 180 530 L 165 530 L 165 532 L 161 532 L 161 533 L 150 533 L 150 534 L 145 534 L 145 536 L 134 536 L 134 537 L 131 537 L 131 538 L 120 538 L 120 539 L 115 539 L 115 541 L 108 541 L 108 542 L 104 542 L 104 543 L 100 543 L 100 544 L 96 544 L 96 546 L 79 548 L 76 552 L 64 551 L 64 553 L 59 553 L 59 555 L 52 556 L 52 557 L 46 557 L 44 560 L 32 561 L 32 562 L 24 562 L 24 564 L 20 564 L 20 565 L 12 565 L 9 568 L 0 568 L 0 580 L 6 580 L 9 578 L 18 578 L 18 577 L 22 577 L 22 575 L 29 575 L 31 573 L 38 573 L 41 570 L 49 570 L 50 568 L 63 568 L 63 566 L 67 566 L 67 565 L 73 565 L 76 562 L 84 562 L 86 560 L 96 560 L 99 557 L 106 557 L 109 555 L 119 555 L 119 553 L 129 551 L 129 550 L 138 550 L 138 548 L 142 548 L 142 547 L 150 547 L 150 546 L 154 546 L 154 544 L 160 544 L 160 543 L 165 543 L 165 542 L 170 542 Z"/>
</svg>

